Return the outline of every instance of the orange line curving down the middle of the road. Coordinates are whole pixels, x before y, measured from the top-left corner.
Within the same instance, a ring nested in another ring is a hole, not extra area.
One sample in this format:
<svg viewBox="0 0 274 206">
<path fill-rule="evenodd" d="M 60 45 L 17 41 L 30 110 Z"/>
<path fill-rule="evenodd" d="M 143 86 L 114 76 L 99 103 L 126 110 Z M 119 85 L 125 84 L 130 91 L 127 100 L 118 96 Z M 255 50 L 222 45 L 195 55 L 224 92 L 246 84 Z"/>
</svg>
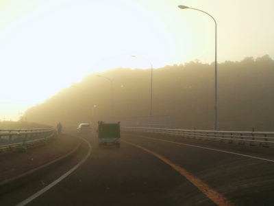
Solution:
<svg viewBox="0 0 274 206">
<path fill-rule="evenodd" d="M 232 205 L 231 203 L 229 203 L 227 198 L 219 194 L 219 192 L 216 192 L 216 190 L 212 189 L 212 187 L 210 187 L 206 183 L 203 183 L 203 181 L 193 176 L 192 174 L 190 174 L 190 172 L 186 171 L 184 168 L 181 168 L 179 165 L 176 165 L 175 163 L 171 162 L 169 159 L 166 159 L 165 157 L 162 157 L 162 155 L 159 155 L 158 153 L 148 150 L 147 148 L 143 148 L 142 146 L 139 146 L 137 144 L 133 144 L 129 141 L 124 141 L 124 142 L 132 146 L 135 146 L 136 148 L 140 148 L 141 150 L 145 150 L 146 152 L 149 152 L 151 155 L 164 161 L 164 163 L 170 165 L 171 168 L 179 172 L 179 174 L 182 174 L 182 176 L 188 179 L 188 181 L 190 181 L 190 183 L 195 185 L 203 194 L 208 196 L 208 198 L 210 198 L 210 200 L 212 200 L 216 205 L 219 205 L 219 206 Z"/>
</svg>

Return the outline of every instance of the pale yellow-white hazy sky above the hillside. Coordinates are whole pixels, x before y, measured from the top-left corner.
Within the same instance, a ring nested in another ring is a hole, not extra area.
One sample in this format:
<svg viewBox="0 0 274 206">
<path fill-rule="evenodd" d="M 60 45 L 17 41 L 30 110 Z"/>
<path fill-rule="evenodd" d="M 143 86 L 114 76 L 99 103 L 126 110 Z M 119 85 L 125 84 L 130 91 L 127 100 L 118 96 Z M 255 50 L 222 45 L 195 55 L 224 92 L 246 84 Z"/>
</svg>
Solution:
<svg viewBox="0 0 274 206">
<path fill-rule="evenodd" d="M 0 119 L 43 102 L 86 73 L 199 59 L 274 58 L 273 0 L 0 0 Z M 131 58 L 134 54 L 139 58 Z"/>
</svg>

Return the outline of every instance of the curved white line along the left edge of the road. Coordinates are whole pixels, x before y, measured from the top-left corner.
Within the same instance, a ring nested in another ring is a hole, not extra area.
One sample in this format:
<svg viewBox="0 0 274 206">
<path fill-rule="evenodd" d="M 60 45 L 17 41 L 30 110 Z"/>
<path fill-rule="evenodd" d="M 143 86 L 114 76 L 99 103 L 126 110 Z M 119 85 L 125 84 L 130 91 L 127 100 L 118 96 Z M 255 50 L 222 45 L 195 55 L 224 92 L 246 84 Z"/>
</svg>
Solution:
<svg viewBox="0 0 274 206">
<path fill-rule="evenodd" d="M 86 141 L 86 139 L 83 139 L 83 140 Z M 82 159 L 82 161 L 80 161 L 79 163 L 77 163 L 77 165 L 75 165 L 73 168 L 71 168 L 71 170 L 69 170 L 68 172 L 66 172 L 62 176 L 60 176 L 58 179 L 56 179 L 55 181 L 53 181 L 52 183 L 50 183 L 49 185 L 47 185 L 47 187 L 42 188 L 42 190 L 39 190 L 38 192 L 36 192 L 32 196 L 30 196 L 29 198 L 25 199 L 25 201 L 22 201 L 21 203 L 18 203 L 15 206 L 23 206 L 23 205 L 26 205 L 27 203 L 33 201 L 35 198 L 37 198 L 41 194 L 47 192 L 47 190 L 51 189 L 51 187 L 53 187 L 54 185 L 58 184 L 60 181 L 62 181 L 63 179 L 65 179 L 66 176 L 69 176 L 72 172 L 74 172 L 77 168 L 79 168 L 79 166 L 82 165 L 82 163 L 84 163 L 88 159 L 88 157 L 90 157 L 90 154 L 91 154 L 90 143 L 88 141 L 86 141 L 86 144 L 88 144 L 88 154 L 86 155 L 86 157 L 84 157 L 84 159 Z"/>
</svg>

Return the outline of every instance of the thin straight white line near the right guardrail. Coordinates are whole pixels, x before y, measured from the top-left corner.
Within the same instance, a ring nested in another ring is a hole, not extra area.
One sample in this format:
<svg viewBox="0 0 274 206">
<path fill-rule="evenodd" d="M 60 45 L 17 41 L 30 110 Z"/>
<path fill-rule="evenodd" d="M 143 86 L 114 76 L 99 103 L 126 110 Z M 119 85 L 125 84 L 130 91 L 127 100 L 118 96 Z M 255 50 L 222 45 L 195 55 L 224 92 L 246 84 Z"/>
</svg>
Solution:
<svg viewBox="0 0 274 206">
<path fill-rule="evenodd" d="M 145 137 L 145 136 L 142 136 L 142 135 L 138 135 L 138 137 L 153 139 L 153 140 L 156 140 L 156 141 L 165 141 L 165 142 L 169 142 L 169 143 L 173 143 L 173 144 L 180 144 L 180 145 L 190 146 L 190 147 L 194 147 L 194 148 L 203 148 L 203 149 L 206 149 L 206 150 L 213 150 L 213 151 L 217 151 L 217 152 L 225 152 L 225 153 L 229 153 L 229 154 L 233 154 L 233 155 L 240 155 L 242 157 L 249 157 L 249 158 L 253 158 L 253 159 L 260 159 L 260 160 L 264 160 L 264 161 L 274 162 L 273 159 L 265 159 L 265 158 L 262 158 L 262 157 L 255 157 L 255 156 L 251 156 L 251 155 L 243 155 L 243 154 L 236 153 L 236 152 L 228 152 L 226 150 L 216 150 L 216 149 L 212 149 L 212 148 L 195 146 L 195 145 L 192 145 L 192 144 L 183 144 L 183 143 L 179 143 L 177 141 L 169 141 L 169 140 L 164 140 L 164 139 L 155 139 L 155 138 L 151 138 L 151 137 Z"/>
</svg>

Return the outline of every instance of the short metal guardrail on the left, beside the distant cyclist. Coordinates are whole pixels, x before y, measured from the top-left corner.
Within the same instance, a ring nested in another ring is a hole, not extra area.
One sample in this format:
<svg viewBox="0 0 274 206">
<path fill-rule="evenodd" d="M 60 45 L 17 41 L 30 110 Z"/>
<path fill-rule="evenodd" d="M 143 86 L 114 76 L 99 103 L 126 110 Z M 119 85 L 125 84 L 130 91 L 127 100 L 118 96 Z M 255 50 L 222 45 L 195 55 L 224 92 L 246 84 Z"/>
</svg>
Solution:
<svg viewBox="0 0 274 206">
<path fill-rule="evenodd" d="M 53 137 L 55 132 L 55 128 L 0 130 L 0 152 L 14 148 L 27 148 L 28 145 L 36 144 L 38 141 L 46 141 Z"/>
</svg>

